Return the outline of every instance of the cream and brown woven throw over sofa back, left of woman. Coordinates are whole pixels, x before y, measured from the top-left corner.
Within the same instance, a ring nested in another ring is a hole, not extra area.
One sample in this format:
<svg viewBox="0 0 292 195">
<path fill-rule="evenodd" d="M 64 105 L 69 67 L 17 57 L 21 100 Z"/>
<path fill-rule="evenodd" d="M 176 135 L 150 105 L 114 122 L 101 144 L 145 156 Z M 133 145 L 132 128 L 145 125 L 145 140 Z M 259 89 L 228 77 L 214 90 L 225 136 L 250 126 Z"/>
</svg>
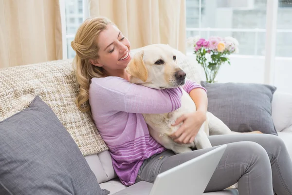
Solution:
<svg viewBox="0 0 292 195">
<path fill-rule="evenodd" d="M 0 69 L 0 120 L 27 108 L 38 95 L 52 108 L 83 156 L 108 150 L 89 112 L 81 112 L 75 104 L 79 89 L 71 63 L 57 60 Z"/>
</svg>

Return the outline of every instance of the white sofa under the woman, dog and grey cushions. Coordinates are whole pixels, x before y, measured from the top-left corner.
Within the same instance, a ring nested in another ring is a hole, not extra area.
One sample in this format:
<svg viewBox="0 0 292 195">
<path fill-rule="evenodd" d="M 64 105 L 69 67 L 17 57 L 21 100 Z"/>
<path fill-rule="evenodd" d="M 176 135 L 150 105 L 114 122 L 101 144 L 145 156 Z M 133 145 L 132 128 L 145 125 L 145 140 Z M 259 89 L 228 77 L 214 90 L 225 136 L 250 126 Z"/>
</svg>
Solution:
<svg viewBox="0 0 292 195">
<path fill-rule="evenodd" d="M 139 49 L 133 50 L 132 55 L 138 50 Z M 178 55 L 182 54 L 179 53 Z M 200 81 L 200 73 L 197 74 L 196 71 L 194 72 L 194 69 L 198 68 L 198 66 L 196 67 L 193 63 L 190 64 L 189 61 L 184 63 L 182 66 L 187 74 L 190 73 L 192 75 L 189 78 L 193 77 L 192 79 L 198 82 Z M 272 112 L 275 128 L 279 137 L 284 140 L 292 159 L 292 94 L 276 91 L 272 101 Z M 108 151 L 101 152 L 97 155 L 85 156 L 85 159 L 97 177 L 101 188 L 109 190 L 110 194 L 114 194 L 115 192 L 126 188 L 126 186 L 119 181 L 114 173 L 110 153 Z M 204 195 L 238 195 L 238 191 L 236 189 L 232 189 L 220 192 L 204 193 Z"/>
</svg>

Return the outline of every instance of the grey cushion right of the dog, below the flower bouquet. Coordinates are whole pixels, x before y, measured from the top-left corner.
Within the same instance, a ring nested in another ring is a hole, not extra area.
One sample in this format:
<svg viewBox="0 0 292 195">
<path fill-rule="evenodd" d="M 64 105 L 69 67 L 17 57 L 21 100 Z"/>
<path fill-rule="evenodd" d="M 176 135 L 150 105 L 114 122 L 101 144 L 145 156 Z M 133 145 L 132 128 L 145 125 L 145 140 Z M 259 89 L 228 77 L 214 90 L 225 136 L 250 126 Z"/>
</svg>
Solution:
<svg viewBox="0 0 292 195">
<path fill-rule="evenodd" d="M 257 83 L 214 83 L 201 81 L 208 94 L 208 111 L 232 131 L 261 131 L 278 135 L 272 119 L 276 87 Z"/>
</svg>

